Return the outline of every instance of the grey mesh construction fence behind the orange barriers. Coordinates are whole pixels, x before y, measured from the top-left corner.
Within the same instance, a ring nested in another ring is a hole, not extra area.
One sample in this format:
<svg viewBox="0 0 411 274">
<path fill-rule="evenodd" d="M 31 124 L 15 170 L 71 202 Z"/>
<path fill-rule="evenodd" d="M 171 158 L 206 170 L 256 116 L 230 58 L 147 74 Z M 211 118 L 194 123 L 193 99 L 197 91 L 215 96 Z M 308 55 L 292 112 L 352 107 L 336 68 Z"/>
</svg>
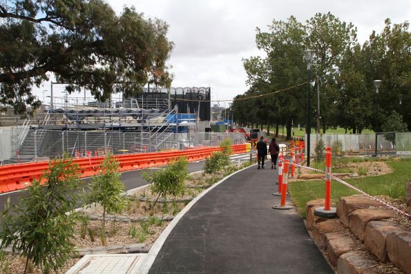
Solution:
<svg viewBox="0 0 411 274">
<path fill-rule="evenodd" d="M 224 139 L 245 144 L 241 133 L 147 133 L 82 130 L 0 130 L 0 162 L 15 164 L 53 159 L 68 153 L 72 157 L 183 150 L 198 146 L 218 146 Z"/>
</svg>

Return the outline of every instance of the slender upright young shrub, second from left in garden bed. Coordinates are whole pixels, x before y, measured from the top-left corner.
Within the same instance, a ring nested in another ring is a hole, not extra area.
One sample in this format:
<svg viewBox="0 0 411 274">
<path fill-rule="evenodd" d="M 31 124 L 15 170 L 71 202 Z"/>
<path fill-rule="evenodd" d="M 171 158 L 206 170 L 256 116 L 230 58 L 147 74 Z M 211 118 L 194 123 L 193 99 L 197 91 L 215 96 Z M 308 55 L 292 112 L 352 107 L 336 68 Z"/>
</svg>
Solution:
<svg viewBox="0 0 411 274">
<path fill-rule="evenodd" d="M 93 177 L 90 183 L 90 194 L 86 199 L 86 206 L 98 203 L 103 207 L 102 233 L 106 233 L 106 213 L 119 213 L 126 208 L 126 199 L 122 197 L 124 184 L 118 173 L 119 163 L 108 153 L 100 166 L 99 175 Z"/>
</svg>

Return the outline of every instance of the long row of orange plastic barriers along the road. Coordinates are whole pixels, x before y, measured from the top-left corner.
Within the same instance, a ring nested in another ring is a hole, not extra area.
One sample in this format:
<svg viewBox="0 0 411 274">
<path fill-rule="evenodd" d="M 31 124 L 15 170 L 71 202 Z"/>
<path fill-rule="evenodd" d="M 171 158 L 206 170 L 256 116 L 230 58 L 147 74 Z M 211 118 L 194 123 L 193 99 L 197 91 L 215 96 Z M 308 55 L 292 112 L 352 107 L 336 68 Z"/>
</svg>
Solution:
<svg viewBox="0 0 411 274">
<path fill-rule="evenodd" d="M 128 171 L 154 166 L 165 166 L 170 159 L 185 156 L 193 162 L 205 159 L 219 147 L 198 147 L 187 150 L 176 150 L 162 153 L 135 153 L 115 155 L 120 162 L 120 171 Z M 233 145 L 233 153 L 245 153 L 247 144 Z M 90 177 L 99 173 L 99 166 L 104 156 L 77 157 L 73 163 L 79 166 L 79 177 Z M 0 193 L 26 188 L 33 179 L 39 179 L 48 169 L 48 161 L 0 166 Z"/>
</svg>

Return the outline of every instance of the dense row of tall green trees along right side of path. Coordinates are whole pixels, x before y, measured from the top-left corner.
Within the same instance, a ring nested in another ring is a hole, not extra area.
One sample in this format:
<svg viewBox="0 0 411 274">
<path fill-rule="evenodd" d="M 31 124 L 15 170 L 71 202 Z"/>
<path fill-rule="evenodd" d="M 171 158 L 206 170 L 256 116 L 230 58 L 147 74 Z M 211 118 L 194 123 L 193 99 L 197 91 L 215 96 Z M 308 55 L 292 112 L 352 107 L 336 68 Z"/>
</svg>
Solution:
<svg viewBox="0 0 411 274">
<path fill-rule="evenodd" d="M 303 52 L 312 49 L 311 81 L 319 79 L 323 133 L 336 126 L 353 133 L 361 133 L 364 128 L 381 132 L 385 117 L 392 111 L 399 114 L 397 117 L 403 117 L 410 128 L 411 38 L 408 29 L 407 21 L 392 24 L 386 19 L 381 34 L 372 32 L 361 46 L 356 40 L 356 27 L 330 12 L 314 14 L 305 23 L 292 16 L 287 21 L 274 19 L 267 31 L 256 30 L 256 47 L 262 55 L 243 59 L 249 90 L 234 100 L 234 117 L 241 124 L 276 125 L 276 133 L 278 124 L 285 125 L 287 137 L 291 137 L 291 124 L 305 125 L 306 85 L 265 97 L 245 98 L 307 81 Z M 377 124 L 375 79 L 383 83 L 379 89 Z M 317 84 L 314 88 L 310 85 L 311 124 L 314 125 Z"/>
</svg>

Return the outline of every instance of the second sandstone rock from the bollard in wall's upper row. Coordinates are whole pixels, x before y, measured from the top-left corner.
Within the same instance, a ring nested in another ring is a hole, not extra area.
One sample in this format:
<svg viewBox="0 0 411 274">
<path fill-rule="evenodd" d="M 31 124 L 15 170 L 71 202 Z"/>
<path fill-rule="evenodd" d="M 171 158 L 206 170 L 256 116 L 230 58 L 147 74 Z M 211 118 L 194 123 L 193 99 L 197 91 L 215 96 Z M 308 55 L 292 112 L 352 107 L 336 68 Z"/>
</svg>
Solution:
<svg viewBox="0 0 411 274">
<path fill-rule="evenodd" d="M 356 237 L 361 241 L 364 239 L 365 227 L 370 221 L 379 221 L 381 219 L 389 219 L 394 215 L 394 211 L 390 209 L 378 208 L 363 208 L 357 209 L 348 215 L 350 219 L 350 229 Z"/>
</svg>

